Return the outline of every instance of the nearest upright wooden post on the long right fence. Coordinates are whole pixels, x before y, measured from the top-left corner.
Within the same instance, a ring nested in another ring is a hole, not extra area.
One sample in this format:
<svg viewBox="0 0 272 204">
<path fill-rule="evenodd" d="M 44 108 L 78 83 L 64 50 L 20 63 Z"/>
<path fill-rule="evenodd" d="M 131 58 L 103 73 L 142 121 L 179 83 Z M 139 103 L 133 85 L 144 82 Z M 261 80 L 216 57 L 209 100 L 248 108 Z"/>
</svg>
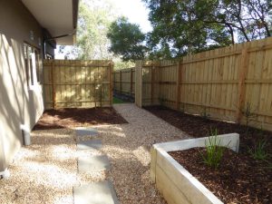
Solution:
<svg viewBox="0 0 272 204">
<path fill-rule="evenodd" d="M 248 49 L 244 48 L 241 54 L 241 65 L 239 70 L 239 81 L 238 81 L 238 105 L 236 111 L 236 119 L 239 123 L 241 121 L 242 109 L 245 104 L 245 81 L 248 73 Z"/>
</svg>

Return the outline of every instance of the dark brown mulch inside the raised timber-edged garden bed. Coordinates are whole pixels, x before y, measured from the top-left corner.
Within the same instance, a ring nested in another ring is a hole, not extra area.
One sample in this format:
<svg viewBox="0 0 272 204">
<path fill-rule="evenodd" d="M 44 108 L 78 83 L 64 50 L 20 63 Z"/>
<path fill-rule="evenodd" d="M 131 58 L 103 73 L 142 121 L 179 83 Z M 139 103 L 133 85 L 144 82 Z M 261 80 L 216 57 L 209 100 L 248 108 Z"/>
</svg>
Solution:
<svg viewBox="0 0 272 204">
<path fill-rule="evenodd" d="M 272 171 L 264 163 L 226 150 L 217 170 L 203 163 L 204 148 L 170 155 L 224 203 L 272 203 Z"/>
</svg>

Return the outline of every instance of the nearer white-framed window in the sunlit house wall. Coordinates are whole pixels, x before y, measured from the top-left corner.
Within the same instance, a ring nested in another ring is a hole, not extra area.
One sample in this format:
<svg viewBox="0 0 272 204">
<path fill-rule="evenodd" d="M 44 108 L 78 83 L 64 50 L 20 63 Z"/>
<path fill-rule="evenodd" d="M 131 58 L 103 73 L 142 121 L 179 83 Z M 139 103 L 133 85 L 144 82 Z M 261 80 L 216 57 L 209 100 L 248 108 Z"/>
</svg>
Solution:
<svg viewBox="0 0 272 204">
<path fill-rule="evenodd" d="M 29 44 L 24 44 L 24 64 L 28 87 L 40 83 L 41 64 L 39 50 Z"/>
</svg>

